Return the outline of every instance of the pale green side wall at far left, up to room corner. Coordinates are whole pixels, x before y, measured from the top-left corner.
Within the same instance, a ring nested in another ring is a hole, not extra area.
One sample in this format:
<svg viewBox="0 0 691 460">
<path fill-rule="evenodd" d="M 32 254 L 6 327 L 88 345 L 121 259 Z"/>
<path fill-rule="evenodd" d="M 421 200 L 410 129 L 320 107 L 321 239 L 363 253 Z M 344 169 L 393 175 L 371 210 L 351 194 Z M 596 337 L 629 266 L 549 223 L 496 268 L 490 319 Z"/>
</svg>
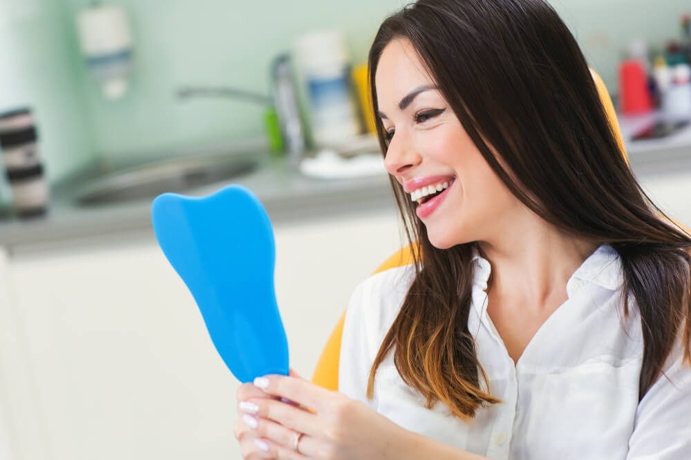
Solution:
<svg viewBox="0 0 691 460">
<path fill-rule="evenodd" d="M 0 0 L 0 111 L 33 108 L 51 179 L 93 156 L 70 29 L 61 0 Z"/>
</svg>

